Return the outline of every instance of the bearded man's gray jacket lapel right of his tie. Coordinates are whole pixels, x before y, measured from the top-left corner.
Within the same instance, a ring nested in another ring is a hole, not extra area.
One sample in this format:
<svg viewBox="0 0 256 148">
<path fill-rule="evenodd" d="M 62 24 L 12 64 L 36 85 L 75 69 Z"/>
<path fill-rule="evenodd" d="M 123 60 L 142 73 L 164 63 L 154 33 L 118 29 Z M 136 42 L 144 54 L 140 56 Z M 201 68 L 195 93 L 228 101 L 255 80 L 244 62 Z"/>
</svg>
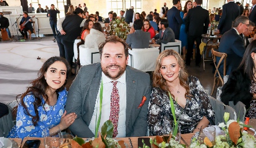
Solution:
<svg viewBox="0 0 256 148">
<path fill-rule="evenodd" d="M 137 108 L 137 106 L 134 106 L 136 88 L 137 88 L 137 80 L 134 79 L 134 75 L 131 72 L 130 66 L 127 66 L 126 68 L 126 121 L 125 121 L 126 129 L 128 128 L 129 121 L 131 119 L 131 111 L 133 110 L 133 108 Z"/>
</svg>

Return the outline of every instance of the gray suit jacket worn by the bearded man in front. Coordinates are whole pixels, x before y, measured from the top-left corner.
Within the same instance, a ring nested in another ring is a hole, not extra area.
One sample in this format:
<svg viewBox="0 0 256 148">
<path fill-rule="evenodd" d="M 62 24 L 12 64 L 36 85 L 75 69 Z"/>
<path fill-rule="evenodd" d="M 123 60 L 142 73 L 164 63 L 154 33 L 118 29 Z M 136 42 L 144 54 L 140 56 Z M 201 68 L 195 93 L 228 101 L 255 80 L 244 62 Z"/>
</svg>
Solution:
<svg viewBox="0 0 256 148">
<path fill-rule="evenodd" d="M 78 116 L 69 128 L 73 134 L 82 138 L 94 136 L 88 126 L 100 87 L 101 72 L 100 63 L 82 66 L 68 92 L 65 110 L 67 113 L 75 112 Z M 151 93 L 149 75 L 127 66 L 126 92 L 126 136 L 145 136 Z M 147 101 L 138 108 L 143 96 L 147 97 Z M 104 116 L 104 110 L 102 110 L 102 116 Z"/>
</svg>

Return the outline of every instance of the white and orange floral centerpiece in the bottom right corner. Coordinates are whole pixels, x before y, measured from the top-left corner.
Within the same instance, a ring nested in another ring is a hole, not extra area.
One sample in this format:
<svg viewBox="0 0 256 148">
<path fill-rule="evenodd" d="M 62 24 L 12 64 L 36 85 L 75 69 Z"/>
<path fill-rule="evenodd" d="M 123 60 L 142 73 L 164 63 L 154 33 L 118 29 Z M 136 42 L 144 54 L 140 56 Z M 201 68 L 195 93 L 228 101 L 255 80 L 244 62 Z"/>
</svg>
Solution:
<svg viewBox="0 0 256 148">
<path fill-rule="evenodd" d="M 200 143 L 196 138 L 192 139 L 192 147 L 256 147 L 256 139 L 253 135 L 243 131 L 243 127 L 251 127 L 245 125 L 239 120 L 229 120 L 229 113 L 224 114 L 225 123 L 220 123 L 220 127 L 224 131 L 224 135 L 215 137 L 215 145 L 206 137 L 203 143 Z"/>
</svg>

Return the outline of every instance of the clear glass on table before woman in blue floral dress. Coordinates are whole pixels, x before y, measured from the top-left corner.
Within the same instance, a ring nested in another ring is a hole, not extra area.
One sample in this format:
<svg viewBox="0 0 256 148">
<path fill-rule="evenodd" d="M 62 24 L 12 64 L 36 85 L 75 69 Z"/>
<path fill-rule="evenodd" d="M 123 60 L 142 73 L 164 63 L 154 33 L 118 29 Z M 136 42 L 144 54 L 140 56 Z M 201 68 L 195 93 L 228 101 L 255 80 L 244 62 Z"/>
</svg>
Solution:
<svg viewBox="0 0 256 148">
<path fill-rule="evenodd" d="M 51 134 L 46 130 L 43 131 L 43 139 L 45 142 L 45 148 L 58 148 L 60 147 L 60 143 L 62 142 L 63 136 L 61 134 L 60 129 L 56 134 Z"/>
</svg>

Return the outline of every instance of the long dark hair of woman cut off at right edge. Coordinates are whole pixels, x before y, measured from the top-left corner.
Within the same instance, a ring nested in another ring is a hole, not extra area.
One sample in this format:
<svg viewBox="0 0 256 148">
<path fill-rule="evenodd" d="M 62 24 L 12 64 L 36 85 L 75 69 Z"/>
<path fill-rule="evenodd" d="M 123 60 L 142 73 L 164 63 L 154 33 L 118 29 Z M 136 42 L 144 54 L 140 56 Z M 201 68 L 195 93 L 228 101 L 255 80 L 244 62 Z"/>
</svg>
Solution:
<svg viewBox="0 0 256 148">
<path fill-rule="evenodd" d="M 244 56 L 242 59 L 242 62 L 240 63 L 238 69 L 242 68 L 244 73 L 246 73 L 250 79 L 254 82 L 256 80 L 255 73 L 255 64 L 254 64 L 254 59 L 251 57 L 251 53 L 256 54 L 256 40 L 253 40 L 248 46 L 246 51 L 244 52 Z"/>
</svg>

